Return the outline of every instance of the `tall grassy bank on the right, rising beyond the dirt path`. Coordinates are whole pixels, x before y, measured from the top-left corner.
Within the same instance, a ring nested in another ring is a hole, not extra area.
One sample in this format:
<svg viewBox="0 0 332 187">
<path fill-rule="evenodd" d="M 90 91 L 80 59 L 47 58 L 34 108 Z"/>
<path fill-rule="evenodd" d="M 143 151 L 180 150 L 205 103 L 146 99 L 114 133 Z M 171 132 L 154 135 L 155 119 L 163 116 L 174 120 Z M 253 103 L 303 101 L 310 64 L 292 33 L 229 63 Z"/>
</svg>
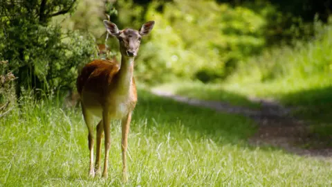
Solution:
<svg viewBox="0 0 332 187">
<path fill-rule="evenodd" d="M 315 28 L 312 41 L 252 58 L 223 87 L 246 96 L 275 98 L 296 106 L 301 116 L 328 120 L 332 111 L 332 24 L 316 22 Z"/>
</svg>

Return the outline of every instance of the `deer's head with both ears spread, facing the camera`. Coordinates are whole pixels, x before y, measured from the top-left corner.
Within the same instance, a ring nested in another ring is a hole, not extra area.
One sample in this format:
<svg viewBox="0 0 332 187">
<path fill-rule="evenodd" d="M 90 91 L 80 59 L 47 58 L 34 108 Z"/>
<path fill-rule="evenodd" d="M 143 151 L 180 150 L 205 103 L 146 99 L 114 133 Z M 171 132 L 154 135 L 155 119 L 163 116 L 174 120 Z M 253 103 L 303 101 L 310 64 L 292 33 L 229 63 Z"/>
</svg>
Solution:
<svg viewBox="0 0 332 187">
<path fill-rule="evenodd" d="M 151 32 L 152 28 L 154 28 L 154 21 L 148 21 L 143 24 L 140 30 L 131 28 L 119 30 L 118 26 L 109 20 L 104 20 L 104 25 L 110 35 L 118 38 L 121 55 L 135 57 L 138 53 L 138 48 L 140 48 L 140 39 Z"/>
</svg>

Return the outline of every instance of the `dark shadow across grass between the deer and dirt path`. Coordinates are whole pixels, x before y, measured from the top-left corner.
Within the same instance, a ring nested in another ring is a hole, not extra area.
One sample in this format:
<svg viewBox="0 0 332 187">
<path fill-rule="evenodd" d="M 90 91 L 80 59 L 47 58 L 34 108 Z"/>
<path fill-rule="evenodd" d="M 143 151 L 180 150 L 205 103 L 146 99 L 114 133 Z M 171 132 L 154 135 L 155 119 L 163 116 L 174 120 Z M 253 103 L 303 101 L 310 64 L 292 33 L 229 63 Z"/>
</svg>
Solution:
<svg viewBox="0 0 332 187">
<path fill-rule="evenodd" d="M 212 139 L 216 143 L 244 143 L 257 131 L 249 118 L 193 107 L 140 90 L 133 120 L 149 120 L 147 126 L 158 133 L 183 139 Z M 187 137 L 186 137 L 187 136 Z M 245 143 L 246 144 L 246 143 Z"/>
</svg>

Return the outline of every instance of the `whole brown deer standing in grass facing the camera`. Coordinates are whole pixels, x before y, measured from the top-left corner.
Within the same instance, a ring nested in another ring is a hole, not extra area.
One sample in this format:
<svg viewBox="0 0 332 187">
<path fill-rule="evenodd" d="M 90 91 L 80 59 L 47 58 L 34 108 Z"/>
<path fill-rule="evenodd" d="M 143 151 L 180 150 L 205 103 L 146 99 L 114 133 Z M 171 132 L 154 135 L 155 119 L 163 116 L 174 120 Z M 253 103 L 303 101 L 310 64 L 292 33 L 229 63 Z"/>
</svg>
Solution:
<svg viewBox="0 0 332 187">
<path fill-rule="evenodd" d="M 81 107 L 86 127 L 89 130 L 88 141 L 90 150 L 89 175 L 100 175 L 101 141 L 104 136 L 104 170 L 102 177 L 107 178 L 109 167 L 109 149 L 111 146 L 111 120 L 120 120 L 122 125 L 122 180 L 127 181 L 127 139 L 131 114 L 137 103 L 137 91 L 133 78 L 133 64 L 140 40 L 154 28 L 154 21 L 147 21 L 139 30 L 118 26 L 109 20 L 104 20 L 104 26 L 109 35 L 116 37 L 120 44 L 121 63 L 115 58 L 93 60 L 86 64 L 77 77 L 77 91 L 81 98 Z M 93 168 L 93 116 L 100 118 L 96 126 L 96 158 Z"/>
</svg>

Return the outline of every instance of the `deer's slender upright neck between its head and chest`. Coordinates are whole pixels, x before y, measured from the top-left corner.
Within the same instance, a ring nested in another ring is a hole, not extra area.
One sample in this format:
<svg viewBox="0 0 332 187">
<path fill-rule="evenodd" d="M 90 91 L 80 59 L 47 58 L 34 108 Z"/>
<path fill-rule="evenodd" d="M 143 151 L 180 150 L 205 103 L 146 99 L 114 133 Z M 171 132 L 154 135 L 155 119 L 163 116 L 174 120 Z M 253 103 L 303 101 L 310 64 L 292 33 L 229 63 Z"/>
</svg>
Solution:
<svg viewBox="0 0 332 187">
<path fill-rule="evenodd" d="M 119 94 L 126 95 L 130 91 L 133 80 L 133 57 L 121 57 L 121 66 L 118 72 Z"/>
</svg>

